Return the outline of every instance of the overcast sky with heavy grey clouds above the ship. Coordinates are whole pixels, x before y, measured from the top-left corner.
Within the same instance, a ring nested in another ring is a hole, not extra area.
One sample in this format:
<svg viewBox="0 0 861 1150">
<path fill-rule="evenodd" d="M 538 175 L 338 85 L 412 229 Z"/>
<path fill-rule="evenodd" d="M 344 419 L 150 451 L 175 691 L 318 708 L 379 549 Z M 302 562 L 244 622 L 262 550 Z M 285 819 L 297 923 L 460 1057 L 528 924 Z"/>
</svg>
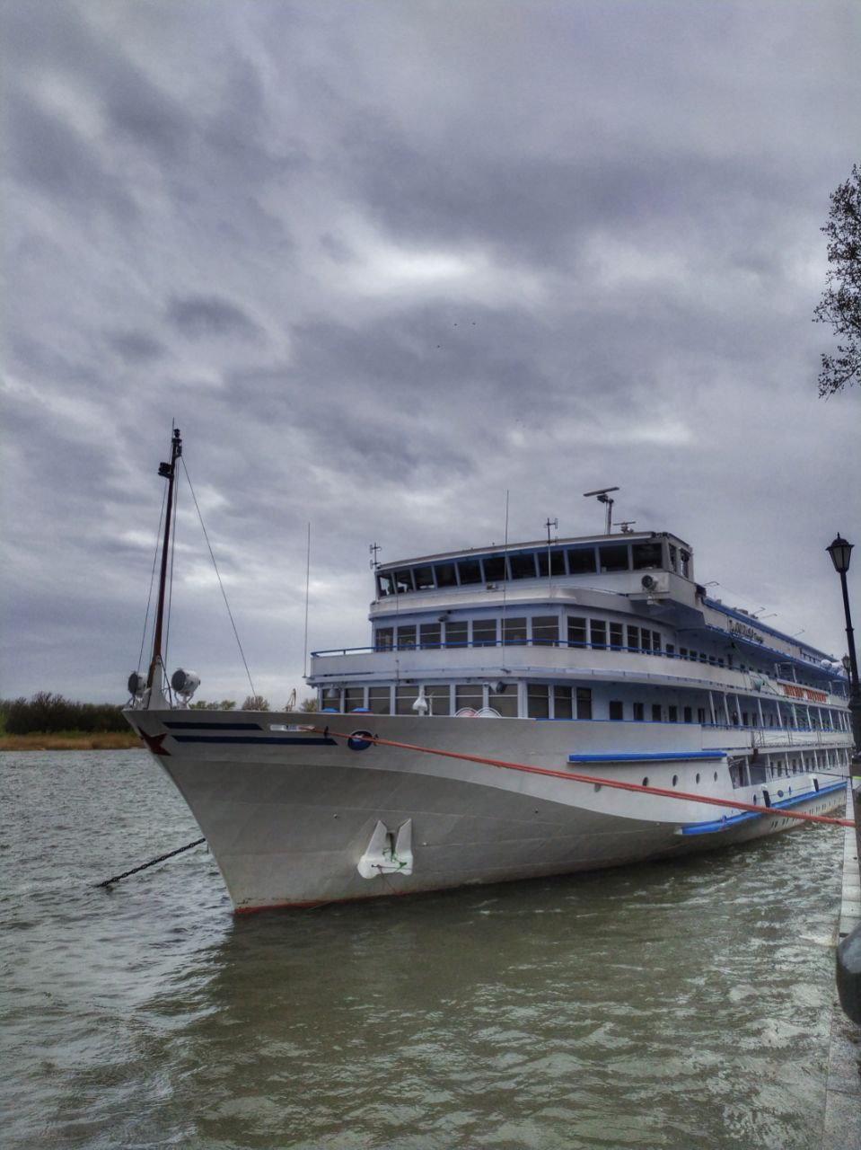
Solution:
<svg viewBox="0 0 861 1150">
<path fill-rule="evenodd" d="M 123 702 L 171 421 L 255 687 L 380 558 L 602 528 L 841 656 L 856 0 L 5 0 L 0 696 Z M 861 546 L 850 573 L 861 626 Z M 248 693 L 179 493 L 169 667 Z"/>
</svg>

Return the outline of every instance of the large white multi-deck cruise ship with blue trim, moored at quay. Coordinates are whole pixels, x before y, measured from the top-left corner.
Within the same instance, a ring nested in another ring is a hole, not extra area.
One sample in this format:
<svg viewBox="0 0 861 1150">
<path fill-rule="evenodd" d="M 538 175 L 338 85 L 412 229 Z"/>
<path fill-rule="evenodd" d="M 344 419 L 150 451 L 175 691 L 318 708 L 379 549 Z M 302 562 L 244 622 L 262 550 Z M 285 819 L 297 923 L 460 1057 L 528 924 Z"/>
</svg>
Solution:
<svg viewBox="0 0 861 1150">
<path fill-rule="evenodd" d="M 709 595 L 669 531 L 378 564 L 370 624 L 312 657 L 316 713 L 190 710 L 160 621 L 130 678 L 237 912 L 672 858 L 844 807 L 843 667 Z"/>
</svg>

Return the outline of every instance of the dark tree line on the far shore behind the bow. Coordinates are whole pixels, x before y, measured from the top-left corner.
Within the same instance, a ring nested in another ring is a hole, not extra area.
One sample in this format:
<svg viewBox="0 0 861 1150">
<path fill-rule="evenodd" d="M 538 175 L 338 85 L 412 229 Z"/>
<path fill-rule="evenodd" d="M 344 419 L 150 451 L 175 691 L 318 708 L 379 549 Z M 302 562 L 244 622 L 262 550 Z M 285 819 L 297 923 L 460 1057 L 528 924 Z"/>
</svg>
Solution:
<svg viewBox="0 0 861 1150">
<path fill-rule="evenodd" d="M 220 703 L 193 703 L 193 710 L 233 711 L 232 699 Z M 269 711 L 263 696 L 248 696 L 243 711 Z M 306 699 L 300 711 L 316 711 L 316 699 Z M 31 698 L 0 699 L 0 734 L 5 735 L 57 735 L 70 731 L 107 734 L 128 731 L 123 707 L 113 703 L 74 703 L 62 695 L 38 691 Z"/>
</svg>

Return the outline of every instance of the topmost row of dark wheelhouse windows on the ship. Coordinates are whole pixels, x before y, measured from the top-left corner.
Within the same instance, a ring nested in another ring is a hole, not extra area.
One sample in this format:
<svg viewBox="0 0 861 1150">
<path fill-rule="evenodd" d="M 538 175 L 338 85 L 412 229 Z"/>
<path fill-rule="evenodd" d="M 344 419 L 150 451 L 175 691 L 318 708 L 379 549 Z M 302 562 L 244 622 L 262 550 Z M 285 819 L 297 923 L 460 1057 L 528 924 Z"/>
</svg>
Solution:
<svg viewBox="0 0 861 1150">
<path fill-rule="evenodd" d="M 669 567 L 690 577 L 691 554 L 674 544 L 663 553 L 660 540 L 607 543 L 579 547 L 538 547 L 507 554 L 470 555 L 437 564 L 401 567 L 377 573 L 379 597 L 432 591 L 437 588 L 475 586 L 508 580 L 547 578 L 548 575 L 592 575 L 606 572 L 654 570 Z"/>
</svg>

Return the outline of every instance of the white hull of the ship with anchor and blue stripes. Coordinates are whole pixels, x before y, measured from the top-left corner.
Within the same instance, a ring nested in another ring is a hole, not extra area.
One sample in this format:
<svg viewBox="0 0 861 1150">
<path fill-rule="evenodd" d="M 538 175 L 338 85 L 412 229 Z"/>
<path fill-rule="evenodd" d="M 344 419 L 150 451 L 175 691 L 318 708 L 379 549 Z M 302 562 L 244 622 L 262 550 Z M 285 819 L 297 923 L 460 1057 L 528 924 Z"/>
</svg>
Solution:
<svg viewBox="0 0 861 1150">
<path fill-rule="evenodd" d="M 845 784 L 830 776 L 781 780 L 779 792 L 774 781 L 733 788 L 725 751 L 704 745 L 695 724 L 668 731 L 529 719 L 126 715 L 183 793 L 238 912 L 690 853 L 801 825 L 782 812 L 825 814 L 845 800 Z M 341 736 L 356 731 L 558 774 L 366 745 L 361 734 L 351 746 Z M 763 811 L 595 787 L 568 777 L 574 773 Z"/>
</svg>

